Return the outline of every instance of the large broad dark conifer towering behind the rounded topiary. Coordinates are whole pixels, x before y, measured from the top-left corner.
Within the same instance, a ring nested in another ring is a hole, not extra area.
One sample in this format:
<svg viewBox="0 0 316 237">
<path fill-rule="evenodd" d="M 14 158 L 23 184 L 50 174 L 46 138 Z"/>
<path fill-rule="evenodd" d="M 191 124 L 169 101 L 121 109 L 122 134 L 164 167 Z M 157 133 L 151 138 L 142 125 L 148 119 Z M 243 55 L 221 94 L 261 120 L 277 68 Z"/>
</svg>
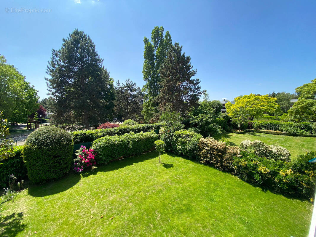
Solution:
<svg viewBox="0 0 316 237">
<path fill-rule="evenodd" d="M 59 50 L 52 50 L 46 71 L 56 100 L 54 118 L 57 124 L 83 124 L 89 129 L 112 112 L 113 80 L 87 34 L 75 29 L 63 42 Z"/>
</svg>

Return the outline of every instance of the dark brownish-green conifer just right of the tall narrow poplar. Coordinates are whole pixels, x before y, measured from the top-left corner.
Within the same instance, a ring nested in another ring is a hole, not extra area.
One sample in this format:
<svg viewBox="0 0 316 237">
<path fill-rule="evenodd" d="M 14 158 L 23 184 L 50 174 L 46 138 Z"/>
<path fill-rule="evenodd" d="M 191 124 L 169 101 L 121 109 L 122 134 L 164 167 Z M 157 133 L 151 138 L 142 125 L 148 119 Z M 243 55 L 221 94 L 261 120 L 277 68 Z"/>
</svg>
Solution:
<svg viewBox="0 0 316 237">
<path fill-rule="evenodd" d="M 181 54 L 182 46 L 175 43 L 167 52 L 167 58 L 160 67 L 160 93 L 158 95 L 161 112 L 176 111 L 186 114 L 191 107 L 198 106 L 201 95 L 200 80 L 192 70 L 190 56 Z"/>
</svg>

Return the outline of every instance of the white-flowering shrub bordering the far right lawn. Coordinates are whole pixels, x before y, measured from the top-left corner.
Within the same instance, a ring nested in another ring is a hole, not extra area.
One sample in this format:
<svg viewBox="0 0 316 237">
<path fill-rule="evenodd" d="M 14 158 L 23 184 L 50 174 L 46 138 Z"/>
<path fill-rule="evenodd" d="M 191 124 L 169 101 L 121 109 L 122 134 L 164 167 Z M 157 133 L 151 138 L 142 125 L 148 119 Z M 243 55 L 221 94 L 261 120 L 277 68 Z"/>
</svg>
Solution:
<svg viewBox="0 0 316 237">
<path fill-rule="evenodd" d="M 240 143 L 240 149 L 247 152 L 254 153 L 260 157 L 273 159 L 275 161 L 291 161 L 291 154 L 289 150 L 281 146 L 267 145 L 261 141 L 245 140 Z"/>
</svg>

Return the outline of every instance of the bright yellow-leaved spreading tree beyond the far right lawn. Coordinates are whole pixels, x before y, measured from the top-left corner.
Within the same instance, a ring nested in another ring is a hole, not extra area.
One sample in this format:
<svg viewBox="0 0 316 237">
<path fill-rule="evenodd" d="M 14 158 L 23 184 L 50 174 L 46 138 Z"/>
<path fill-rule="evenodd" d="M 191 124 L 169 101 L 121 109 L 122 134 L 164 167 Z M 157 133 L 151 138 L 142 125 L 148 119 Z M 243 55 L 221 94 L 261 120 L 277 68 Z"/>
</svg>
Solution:
<svg viewBox="0 0 316 237">
<path fill-rule="evenodd" d="M 225 105 L 229 116 L 242 117 L 253 120 L 263 114 L 275 114 L 281 108 L 276 103 L 276 98 L 268 95 L 244 95 L 235 98 L 235 104 L 228 102 Z"/>
</svg>

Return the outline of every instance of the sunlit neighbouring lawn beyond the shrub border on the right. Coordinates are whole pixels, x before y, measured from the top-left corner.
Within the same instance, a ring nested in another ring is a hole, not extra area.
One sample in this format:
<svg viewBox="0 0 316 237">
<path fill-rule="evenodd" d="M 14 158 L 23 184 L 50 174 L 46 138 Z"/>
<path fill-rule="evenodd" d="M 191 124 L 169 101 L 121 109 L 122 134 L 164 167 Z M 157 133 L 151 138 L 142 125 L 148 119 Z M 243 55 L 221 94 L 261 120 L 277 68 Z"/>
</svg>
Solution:
<svg viewBox="0 0 316 237">
<path fill-rule="evenodd" d="M 214 136 L 214 138 L 218 139 L 222 136 L 227 137 L 231 142 L 231 145 L 239 146 L 239 144 L 246 139 L 251 141 L 260 140 L 269 145 L 279 145 L 288 149 L 292 158 L 296 158 L 297 155 L 300 154 L 305 154 L 307 151 L 316 150 L 316 137 L 293 137 L 258 132 L 247 132 L 244 134 L 224 133 Z"/>
</svg>

